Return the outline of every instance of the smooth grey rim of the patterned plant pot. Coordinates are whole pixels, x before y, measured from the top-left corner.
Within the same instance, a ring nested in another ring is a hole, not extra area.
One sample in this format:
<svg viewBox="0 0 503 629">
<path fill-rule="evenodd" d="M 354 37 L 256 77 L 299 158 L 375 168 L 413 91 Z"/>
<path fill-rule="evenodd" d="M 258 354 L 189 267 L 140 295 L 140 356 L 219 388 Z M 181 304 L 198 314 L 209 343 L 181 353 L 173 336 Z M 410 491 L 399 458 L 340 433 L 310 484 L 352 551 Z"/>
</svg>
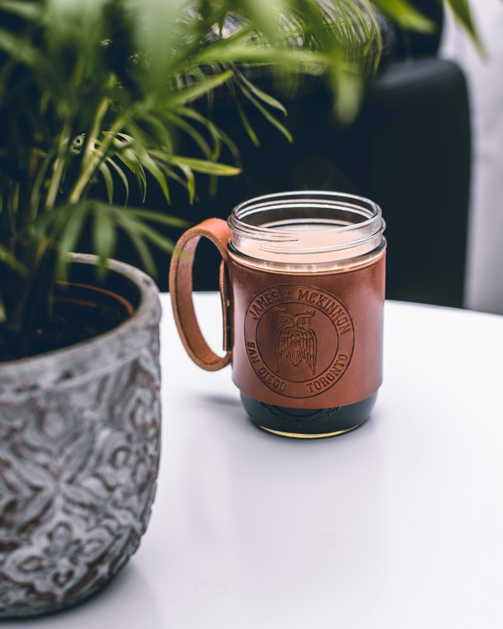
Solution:
<svg viewBox="0 0 503 629">
<path fill-rule="evenodd" d="M 70 253 L 69 260 L 70 262 L 76 262 L 77 264 L 96 265 L 98 257 L 91 253 Z M 18 377 L 21 377 L 21 379 L 25 381 L 25 384 L 27 379 L 34 381 L 35 379 L 38 379 L 38 377 L 41 377 L 43 380 L 47 380 L 47 378 L 42 377 L 42 374 L 44 374 L 49 366 L 50 369 L 54 370 L 55 362 L 58 364 L 57 371 L 68 369 L 74 363 L 92 363 L 94 362 L 92 360 L 92 355 L 96 353 L 104 343 L 120 343 L 125 337 L 131 338 L 131 334 L 136 334 L 136 337 L 141 337 L 142 335 L 138 335 L 138 331 L 140 331 L 141 328 L 158 324 L 161 309 L 157 284 L 155 284 L 155 282 L 146 275 L 146 273 L 140 269 L 136 269 L 136 267 L 133 267 L 130 264 L 126 264 L 125 262 L 118 262 L 118 260 L 110 259 L 107 261 L 107 267 L 108 269 L 113 270 L 129 279 L 140 291 L 140 303 L 133 315 L 131 315 L 126 321 L 123 321 L 123 323 L 119 323 L 119 325 L 114 327 L 112 330 L 99 334 L 96 337 L 80 341 L 79 343 L 74 343 L 73 345 L 67 345 L 67 347 L 62 347 L 57 350 L 36 354 L 35 356 L 0 362 L 0 397 L 6 390 L 4 385 L 8 384 L 9 381 L 12 386 Z M 128 343 L 128 356 L 132 355 L 135 352 L 135 349 L 139 350 L 140 347 L 141 338 L 138 338 L 137 342 L 134 342 L 133 340 L 132 343 Z M 101 351 L 97 353 L 101 355 L 100 366 L 106 367 L 106 365 L 102 362 L 104 352 Z M 125 355 L 124 358 L 126 358 Z M 111 362 L 116 362 L 116 358 Z M 77 375 L 81 376 L 82 371 L 79 371 L 80 373 Z M 67 379 L 70 381 L 74 378 L 70 376 Z M 22 386 L 23 383 L 20 382 L 19 384 Z M 56 382 L 53 382 L 52 384 L 56 384 Z M 45 386 L 43 388 L 45 388 Z"/>
</svg>

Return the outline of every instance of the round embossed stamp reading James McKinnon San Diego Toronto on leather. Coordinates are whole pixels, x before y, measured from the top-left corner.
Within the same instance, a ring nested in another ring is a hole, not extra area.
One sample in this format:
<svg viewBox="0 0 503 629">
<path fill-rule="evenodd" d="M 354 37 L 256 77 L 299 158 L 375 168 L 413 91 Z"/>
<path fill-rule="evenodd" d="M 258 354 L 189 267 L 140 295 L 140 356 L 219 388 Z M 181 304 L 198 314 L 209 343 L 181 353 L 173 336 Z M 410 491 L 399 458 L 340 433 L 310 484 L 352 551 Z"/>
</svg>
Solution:
<svg viewBox="0 0 503 629">
<path fill-rule="evenodd" d="M 246 350 L 255 373 L 290 398 L 334 386 L 350 364 L 354 338 L 346 306 L 312 286 L 272 286 L 246 311 Z"/>
</svg>

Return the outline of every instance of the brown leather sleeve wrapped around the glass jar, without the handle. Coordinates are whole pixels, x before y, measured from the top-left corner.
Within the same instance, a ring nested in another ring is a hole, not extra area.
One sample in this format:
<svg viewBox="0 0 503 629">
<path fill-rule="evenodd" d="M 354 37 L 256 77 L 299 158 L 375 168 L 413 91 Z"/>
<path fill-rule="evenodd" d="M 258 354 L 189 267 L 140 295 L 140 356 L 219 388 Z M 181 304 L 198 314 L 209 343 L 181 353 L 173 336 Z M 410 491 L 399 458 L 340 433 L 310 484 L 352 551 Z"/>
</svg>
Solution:
<svg viewBox="0 0 503 629">
<path fill-rule="evenodd" d="M 333 408 L 382 382 L 385 252 L 346 272 L 280 274 L 229 254 L 233 381 L 261 402 Z"/>
</svg>

